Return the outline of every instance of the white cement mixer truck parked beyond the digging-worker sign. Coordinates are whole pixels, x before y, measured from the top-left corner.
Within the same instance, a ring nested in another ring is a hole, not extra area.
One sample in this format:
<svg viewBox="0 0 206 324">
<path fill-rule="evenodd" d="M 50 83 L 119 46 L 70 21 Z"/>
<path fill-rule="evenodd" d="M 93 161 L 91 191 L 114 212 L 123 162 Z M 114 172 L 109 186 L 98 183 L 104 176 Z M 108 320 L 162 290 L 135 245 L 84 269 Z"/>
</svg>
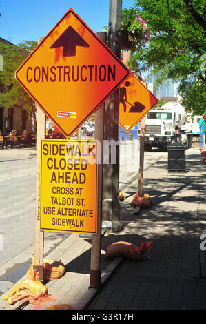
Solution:
<svg viewBox="0 0 206 324">
<path fill-rule="evenodd" d="M 192 147 L 192 123 L 187 123 L 186 112 L 180 103 L 165 103 L 147 112 L 145 118 L 145 150 L 167 148 L 171 143 Z"/>
</svg>

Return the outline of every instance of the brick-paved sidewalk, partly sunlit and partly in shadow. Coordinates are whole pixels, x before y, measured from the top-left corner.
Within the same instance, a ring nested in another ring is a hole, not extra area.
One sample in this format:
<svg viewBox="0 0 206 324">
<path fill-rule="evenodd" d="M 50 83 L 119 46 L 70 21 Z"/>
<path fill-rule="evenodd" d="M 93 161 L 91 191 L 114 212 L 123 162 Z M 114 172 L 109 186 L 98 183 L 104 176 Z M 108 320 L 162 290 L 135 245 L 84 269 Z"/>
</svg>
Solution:
<svg viewBox="0 0 206 324">
<path fill-rule="evenodd" d="M 66 266 L 66 273 L 47 284 L 56 301 L 41 305 L 68 304 L 74 310 L 143 310 L 205 309 L 206 263 L 200 250 L 201 234 L 206 234 L 205 165 L 199 150 L 187 151 L 187 172 L 168 173 L 167 161 L 157 161 L 144 172 L 144 192 L 153 205 L 134 216 L 130 207 L 138 190 L 138 179 L 124 190 L 121 202 L 120 233 L 106 233 L 101 244 L 101 289 L 89 289 L 91 239 L 72 234 L 54 250 L 48 259 Z M 106 248 L 115 241 L 139 245 L 152 241 L 150 259 L 132 262 L 103 258 Z M 152 258 L 152 259 L 151 259 Z M 202 262 L 200 262 L 202 261 Z M 0 309 L 22 308 L 0 302 Z M 24 310 L 38 309 L 25 305 Z"/>
</svg>

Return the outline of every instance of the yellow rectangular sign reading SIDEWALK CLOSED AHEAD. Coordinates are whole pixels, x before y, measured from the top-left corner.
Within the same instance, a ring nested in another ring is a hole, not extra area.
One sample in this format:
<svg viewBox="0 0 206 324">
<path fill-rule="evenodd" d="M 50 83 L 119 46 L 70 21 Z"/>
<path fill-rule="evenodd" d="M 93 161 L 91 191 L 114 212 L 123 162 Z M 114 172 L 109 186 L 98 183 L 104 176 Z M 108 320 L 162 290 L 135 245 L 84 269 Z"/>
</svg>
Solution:
<svg viewBox="0 0 206 324">
<path fill-rule="evenodd" d="M 41 141 L 40 230 L 97 234 L 97 143 Z"/>
</svg>

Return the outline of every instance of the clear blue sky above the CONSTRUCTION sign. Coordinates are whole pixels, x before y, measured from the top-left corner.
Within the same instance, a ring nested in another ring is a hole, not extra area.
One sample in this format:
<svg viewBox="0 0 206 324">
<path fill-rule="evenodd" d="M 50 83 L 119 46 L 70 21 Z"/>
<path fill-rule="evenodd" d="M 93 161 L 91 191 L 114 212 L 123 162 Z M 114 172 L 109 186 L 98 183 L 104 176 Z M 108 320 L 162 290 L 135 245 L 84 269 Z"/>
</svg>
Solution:
<svg viewBox="0 0 206 324">
<path fill-rule="evenodd" d="M 110 0 L 0 0 L 0 37 L 14 43 L 44 37 L 72 8 L 96 33 L 108 25 Z M 123 0 L 122 8 L 134 6 Z"/>
</svg>

